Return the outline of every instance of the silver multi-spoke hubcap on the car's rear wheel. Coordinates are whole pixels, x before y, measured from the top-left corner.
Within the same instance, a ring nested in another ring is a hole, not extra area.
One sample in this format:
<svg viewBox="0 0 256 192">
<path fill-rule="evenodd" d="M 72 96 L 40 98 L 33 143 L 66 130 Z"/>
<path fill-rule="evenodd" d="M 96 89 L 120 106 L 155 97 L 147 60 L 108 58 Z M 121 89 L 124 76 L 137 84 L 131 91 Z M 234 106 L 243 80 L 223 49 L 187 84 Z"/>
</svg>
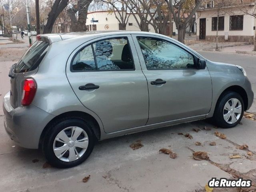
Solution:
<svg viewBox="0 0 256 192">
<path fill-rule="evenodd" d="M 88 135 L 80 127 L 68 127 L 58 133 L 53 142 L 53 152 L 62 161 L 71 162 L 84 155 Z"/>
</svg>

